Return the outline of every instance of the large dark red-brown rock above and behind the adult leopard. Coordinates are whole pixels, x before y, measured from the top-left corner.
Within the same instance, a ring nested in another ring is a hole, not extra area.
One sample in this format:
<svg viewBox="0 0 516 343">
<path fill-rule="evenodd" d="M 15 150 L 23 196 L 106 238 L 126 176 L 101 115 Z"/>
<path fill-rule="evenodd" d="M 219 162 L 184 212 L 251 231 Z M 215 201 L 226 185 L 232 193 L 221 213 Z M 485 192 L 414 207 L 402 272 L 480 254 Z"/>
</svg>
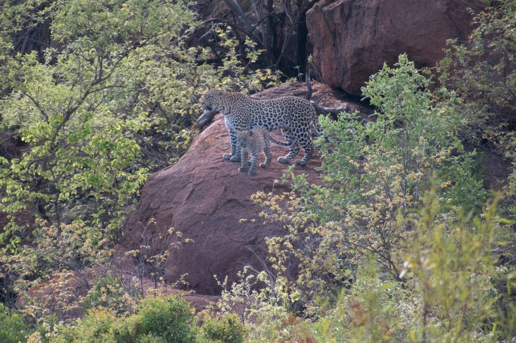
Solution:
<svg viewBox="0 0 516 343">
<path fill-rule="evenodd" d="M 313 59 L 324 81 L 350 94 L 383 65 L 407 53 L 417 67 L 444 57 L 449 38 L 471 31 L 478 0 L 322 0 L 307 12 Z"/>
</svg>

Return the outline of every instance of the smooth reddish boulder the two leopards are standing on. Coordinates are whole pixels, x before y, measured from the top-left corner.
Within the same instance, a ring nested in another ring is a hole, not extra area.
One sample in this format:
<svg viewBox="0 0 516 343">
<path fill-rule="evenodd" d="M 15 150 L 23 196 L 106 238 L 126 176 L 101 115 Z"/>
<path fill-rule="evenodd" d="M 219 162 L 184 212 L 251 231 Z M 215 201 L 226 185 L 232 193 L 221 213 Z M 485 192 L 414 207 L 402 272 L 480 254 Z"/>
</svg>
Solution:
<svg viewBox="0 0 516 343">
<path fill-rule="evenodd" d="M 301 83 L 264 91 L 260 96 L 298 95 L 305 90 Z M 338 92 L 322 84 L 314 85 L 313 99 L 322 106 L 346 105 L 338 99 Z M 273 132 L 273 136 L 283 140 L 279 132 Z M 274 183 L 286 167 L 276 158 L 286 155 L 288 148 L 272 146 L 272 164 L 268 169 L 259 168 L 255 177 L 239 172 L 239 163 L 223 160 L 223 153 L 228 151 L 228 130 L 222 115 L 217 114 L 177 163 L 150 177 L 136 210 L 126 222 L 121 242 L 127 249 L 138 249 L 149 237 L 157 237 L 171 227 L 181 231 L 182 238 L 193 239 L 194 243 L 170 251 L 166 279 L 175 282 L 188 273 L 185 280 L 189 288 L 199 294 L 220 293 L 214 275 L 221 280 L 228 276 L 231 282 L 245 265 L 261 268 L 260 259 L 267 249 L 265 237 L 283 234 L 279 225 L 263 224 L 259 217 L 262 209 L 250 197 L 257 191 L 275 194 L 289 191 L 288 185 Z M 309 182 L 317 183 L 318 166 L 316 153 L 307 166 L 296 166 L 295 173 L 308 174 Z M 240 222 L 243 218 L 256 221 Z M 152 249 L 164 251 L 173 239 L 171 236 L 156 239 Z"/>
</svg>

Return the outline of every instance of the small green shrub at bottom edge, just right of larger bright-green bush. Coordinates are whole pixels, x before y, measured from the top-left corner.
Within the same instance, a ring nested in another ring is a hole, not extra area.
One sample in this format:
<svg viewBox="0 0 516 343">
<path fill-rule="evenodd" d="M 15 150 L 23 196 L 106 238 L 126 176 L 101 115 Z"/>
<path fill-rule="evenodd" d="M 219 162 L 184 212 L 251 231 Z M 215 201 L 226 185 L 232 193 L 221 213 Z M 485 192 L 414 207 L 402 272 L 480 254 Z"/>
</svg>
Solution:
<svg viewBox="0 0 516 343">
<path fill-rule="evenodd" d="M 202 342 L 242 343 L 246 337 L 244 324 L 237 315 L 205 316 L 200 330 Z"/>
</svg>

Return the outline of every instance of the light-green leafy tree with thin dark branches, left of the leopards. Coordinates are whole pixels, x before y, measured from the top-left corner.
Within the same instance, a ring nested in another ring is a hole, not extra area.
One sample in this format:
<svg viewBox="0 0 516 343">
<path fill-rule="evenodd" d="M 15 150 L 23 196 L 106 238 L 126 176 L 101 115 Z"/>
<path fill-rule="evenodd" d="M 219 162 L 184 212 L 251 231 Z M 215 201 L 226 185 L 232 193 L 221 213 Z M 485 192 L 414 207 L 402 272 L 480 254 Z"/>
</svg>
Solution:
<svg viewBox="0 0 516 343">
<path fill-rule="evenodd" d="M 135 132 L 153 121 L 131 62 L 140 57 L 147 65 L 154 47 L 179 49 L 196 24 L 183 3 L 72 1 L 51 9 L 53 40 L 62 47 L 47 48 L 44 63 L 35 52 L 10 57 L 19 74 L 2 101 L 3 121 L 20 126 L 30 149 L 2 161 L 0 209 L 11 218 L 4 244 L 21 229 L 15 214 L 30 207 L 58 227 L 72 220 L 119 225 L 149 171 L 138 163 Z"/>
</svg>

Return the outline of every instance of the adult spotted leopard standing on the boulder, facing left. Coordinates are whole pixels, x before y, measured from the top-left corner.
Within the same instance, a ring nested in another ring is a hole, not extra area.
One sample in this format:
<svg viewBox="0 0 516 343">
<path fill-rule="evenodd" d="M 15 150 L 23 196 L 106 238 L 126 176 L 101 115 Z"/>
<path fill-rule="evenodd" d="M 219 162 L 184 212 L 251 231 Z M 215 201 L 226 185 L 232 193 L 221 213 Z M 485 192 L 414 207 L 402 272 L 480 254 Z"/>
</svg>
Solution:
<svg viewBox="0 0 516 343">
<path fill-rule="evenodd" d="M 290 147 L 288 155 L 279 157 L 278 162 L 288 163 L 304 150 L 298 165 L 307 164 L 314 152 L 312 135 L 320 135 L 317 112 L 308 100 L 295 96 L 276 99 L 253 99 L 236 92 L 210 90 L 204 94 L 201 105 L 206 110 L 217 110 L 224 115 L 225 125 L 229 129 L 231 154 L 224 153 L 223 158 L 233 162 L 241 160 L 235 131 L 265 127 L 268 131 L 281 129 L 286 144 Z"/>
</svg>

